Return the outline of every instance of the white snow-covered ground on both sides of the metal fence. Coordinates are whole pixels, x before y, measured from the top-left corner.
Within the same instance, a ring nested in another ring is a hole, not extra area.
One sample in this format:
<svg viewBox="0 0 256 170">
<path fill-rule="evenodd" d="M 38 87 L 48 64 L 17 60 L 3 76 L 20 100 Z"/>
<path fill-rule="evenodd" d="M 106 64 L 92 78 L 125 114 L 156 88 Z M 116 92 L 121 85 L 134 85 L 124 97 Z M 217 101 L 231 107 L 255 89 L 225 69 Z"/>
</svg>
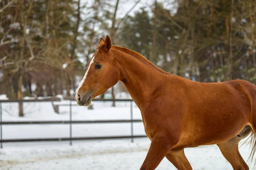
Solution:
<svg viewBox="0 0 256 170">
<path fill-rule="evenodd" d="M 55 102 L 57 104 L 57 102 Z M 69 101 L 58 102 L 61 104 Z M 74 102 L 75 104 L 75 102 Z M 73 107 L 73 120 L 130 119 L 130 103 L 93 102 L 94 110 Z M 23 118 L 17 117 L 16 103 L 3 103 L 3 121 L 69 120 L 69 107 L 60 106 L 60 114 L 50 102 L 25 103 Z M 133 105 L 134 119 L 141 119 L 140 110 Z M 130 124 L 73 125 L 73 136 L 129 135 Z M 143 123 L 134 123 L 134 134 L 145 134 Z M 69 125 L 4 125 L 3 139 L 68 137 Z M 242 142 L 240 142 L 242 143 Z M 0 149 L 0 170 L 138 170 L 147 154 L 147 138 L 69 142 L 3 143 Z M 249 146 L 240 149 L 247 160 Z M 232 170 L 216 145 L 186 148 L 194 170 Z M 175 170 L 163 159 L 157 170 Z"/>
</svg>

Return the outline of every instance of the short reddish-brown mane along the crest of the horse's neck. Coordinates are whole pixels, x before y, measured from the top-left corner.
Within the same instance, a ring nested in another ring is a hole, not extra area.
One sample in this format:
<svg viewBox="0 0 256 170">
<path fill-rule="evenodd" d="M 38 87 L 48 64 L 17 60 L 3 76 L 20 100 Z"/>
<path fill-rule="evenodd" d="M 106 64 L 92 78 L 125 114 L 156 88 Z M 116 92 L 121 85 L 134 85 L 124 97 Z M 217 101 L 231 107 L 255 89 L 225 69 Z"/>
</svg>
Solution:
<svg viewBox="0 0 256 170">
<path fill-rule="evenodd" d="M 137 59 L 139 59 L 140 61 L 146 62 L 147 64 L 151 65 L 153 68 L 155 68 L 157 71 L 160 71 L 163 74 L 169 74 L 166 71 L 163 71 L 161 68 L 158 68 L 157 66 L 155 66 L 152 62 L 150 62 L 146 57 L 144 57 L 143 55 L 137 53 L 136 51 L 132 51 L 128 48 L 125 47 L 120 47 L 120 46 L 116 46 L 116 45 L 112 45 L 112 48 L 122 51 L 126 54 L 130 54 L 134 57 L 136 57 Z"/>
</svg>

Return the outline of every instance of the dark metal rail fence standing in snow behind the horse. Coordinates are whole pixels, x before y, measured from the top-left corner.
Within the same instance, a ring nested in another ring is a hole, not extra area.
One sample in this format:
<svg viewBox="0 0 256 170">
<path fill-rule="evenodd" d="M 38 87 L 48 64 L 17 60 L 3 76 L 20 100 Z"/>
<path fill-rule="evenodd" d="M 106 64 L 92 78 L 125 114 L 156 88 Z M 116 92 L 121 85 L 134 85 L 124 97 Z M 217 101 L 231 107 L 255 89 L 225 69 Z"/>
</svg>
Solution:
<svg viewBox="0 0 256 170">
<path fill-rule="evenodd" d="M 72 105 L 72 100 L 70 100 L 69 104 L 59 104 L 59 106 L 69 106 L 69 120 L 66 121 L 3 121 L 2 120 L 2 103 L 5 102 L 52 102 L 53 108 L 55 110 L 55 105 L 53 102 L 61 101 L 58 98 L 52 99 L 38 99 L 38 100 L 0 100 L 0 147 L 3 148 L 3 143 L 5 142 L 43 142 L 43 141 L 69 141 L 70 145 L 72 145 L 73 140 L 91 140 L 91 139 L 127 139 L 131 138 L 131 142 L 133 142 L 134 138 L 141 138 L 146 137 L 145 135 L 134 135 L 134 122 L 142 122 L 141 119 L 133 119 L 133 100 L 132 99 L 94 99 L 94 102 L 130 102 L 130 113 L 131 119 L 125 120 L 95 120 L 95 121 L 86 121 L 86 120 L 79 120 L 73 121 L 72 120 L 72 107 L 78 105 Z M 72 136 L 72 125 L 73 124 L 93 124 L 93 123 L 131 123 L 131 135 L 128 136 L 92 136 L 92 137 L 73 137 Z M 64 138 L 30 138 L 30 139 L 3 139 L 3 125 L 38 125 L 38 124 L 69 124 L 69 137 Z"/>
</svg>

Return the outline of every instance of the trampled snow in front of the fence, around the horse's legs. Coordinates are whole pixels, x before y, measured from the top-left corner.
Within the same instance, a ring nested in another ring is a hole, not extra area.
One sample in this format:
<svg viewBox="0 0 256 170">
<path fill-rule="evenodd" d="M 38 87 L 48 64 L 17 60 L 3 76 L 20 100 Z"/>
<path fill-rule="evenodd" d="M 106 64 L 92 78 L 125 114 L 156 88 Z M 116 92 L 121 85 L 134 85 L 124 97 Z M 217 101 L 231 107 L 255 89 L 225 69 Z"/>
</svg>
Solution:
<svg viewBox="0 0 256 170">
<path fill-rule="evenodd" d="M 150 141 L 130 140 L 6 144 L 0 150 L 1 170 L 138 170 Z M 240 148 L 247 159 L 249 147 Z M 232 170 L 216 145 L 185 149 L 194 170 Z M 163 159 L 157 170 L 175 170 Z"/>
</svg>

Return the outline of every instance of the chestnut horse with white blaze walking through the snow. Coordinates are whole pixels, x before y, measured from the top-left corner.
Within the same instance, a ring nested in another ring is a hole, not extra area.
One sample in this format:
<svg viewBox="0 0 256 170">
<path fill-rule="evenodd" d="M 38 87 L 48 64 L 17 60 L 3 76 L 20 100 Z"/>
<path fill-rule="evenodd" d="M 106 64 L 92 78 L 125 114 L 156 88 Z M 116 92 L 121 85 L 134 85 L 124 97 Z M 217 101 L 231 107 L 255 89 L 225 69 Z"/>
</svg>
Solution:
<svg viewBox="0 0 256 170">
<path fill-rule="evenodd" d="M 151 140 L 140 170 L 154 170 L 166 157 L 178 170 L 192 170 L 186 147 L 217 144 L 234 170 L 248 170 L 238 143 L 252 134 L 256 150 L 256 86 L 245 80 L 194 82 L 157 68 L 145 57 L 100 39 L 75 96 L 78 105 L 122 81 L 140 108 Z M 254 135 L 253 135 L 254 134 Z"/>
</svg>

